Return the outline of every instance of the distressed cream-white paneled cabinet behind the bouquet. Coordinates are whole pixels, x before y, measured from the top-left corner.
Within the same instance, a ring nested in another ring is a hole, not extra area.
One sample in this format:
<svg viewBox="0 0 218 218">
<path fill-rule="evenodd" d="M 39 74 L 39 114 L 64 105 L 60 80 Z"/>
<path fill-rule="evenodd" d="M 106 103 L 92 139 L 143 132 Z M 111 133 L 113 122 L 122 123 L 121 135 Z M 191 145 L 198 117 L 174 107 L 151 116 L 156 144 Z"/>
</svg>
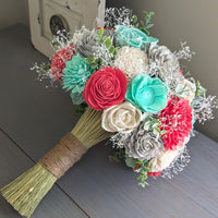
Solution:
<svg viewBox="0 0 218 218">
<path fill-rule="evenodd" d="M 58 29 L 73 33 L 82 25 L 102 26 L 106 0 L 28 0 L 32 43 L 50 57 Z M 96 17 L 98 17 L 96 20 Z"/>
</svg>

